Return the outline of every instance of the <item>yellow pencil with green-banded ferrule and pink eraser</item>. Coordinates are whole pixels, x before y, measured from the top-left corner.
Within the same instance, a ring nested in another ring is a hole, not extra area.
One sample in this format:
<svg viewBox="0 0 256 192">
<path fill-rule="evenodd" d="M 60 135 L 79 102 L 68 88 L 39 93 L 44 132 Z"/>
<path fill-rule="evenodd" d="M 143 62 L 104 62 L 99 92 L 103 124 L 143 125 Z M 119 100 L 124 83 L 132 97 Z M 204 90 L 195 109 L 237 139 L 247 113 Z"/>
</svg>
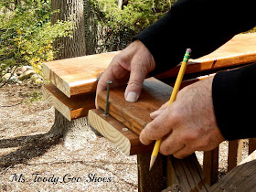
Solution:
<svg viewBox="0 0 256 192">
<path fill-rule="evenodd" d="M 190 48 L 187 48 L 186 50 L 186 54 L 183 58 L 183 61 L 181 63 L 181 67 L 178 71 L 178 74 L 177 74 L 177 78 L 176 78 L 176 84 L 175 84 L 175 87 L 172 91 L 172 94 L 171 94 L 171 97 L 170 97 L 170 100 L 168 102 L 168 107 L 174 102 L 176 101 L 176 94 L 179 90 L 179 87 L 180 87 L 180 84 L 181 84 L 181 81 L 183 79 L 183 76 L 184 76 L 184 73 L 185 73 L 185 70 L 187 68 L 187 60 L 189 59 L 190 57 L 190 53 L 191 53 L 191 49 Z M 153 152 L 152 152 L 152 155 L 151 155 L 151 159 L 150 159 L 150 165 L 149 165 L 149 171 L 151 170 L 152 166 L 154 165 L 155 163 L 155 159 L 158 155 L 158 152 L 159 152 L 159 149 L 160 149 L 160 145 L 162 143 L 162 139 L 158 139 L 156 140 L 155 142 L 155 146 L 154 146 L 154 149 L 153 149 Z"/>
</svg>

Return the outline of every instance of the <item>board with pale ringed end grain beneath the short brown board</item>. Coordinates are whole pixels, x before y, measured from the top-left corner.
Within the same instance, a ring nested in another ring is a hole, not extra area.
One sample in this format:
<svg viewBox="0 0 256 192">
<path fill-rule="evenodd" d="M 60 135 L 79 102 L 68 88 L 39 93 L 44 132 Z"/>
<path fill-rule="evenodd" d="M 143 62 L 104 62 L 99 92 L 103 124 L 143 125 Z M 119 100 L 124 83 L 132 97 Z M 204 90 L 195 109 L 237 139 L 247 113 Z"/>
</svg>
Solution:
<svg viewBox="0 0 256 192">
<path fill-rule="evenodd" d="M 104 115 L 102 110 L 90 110 L 88 114 L 91 126 L 106 139 L 115 144 L 125 155 L 150 153 L 154 144 L 140 143 L 139 136 L 118 122 L 111 115 Z"/>
</svg>

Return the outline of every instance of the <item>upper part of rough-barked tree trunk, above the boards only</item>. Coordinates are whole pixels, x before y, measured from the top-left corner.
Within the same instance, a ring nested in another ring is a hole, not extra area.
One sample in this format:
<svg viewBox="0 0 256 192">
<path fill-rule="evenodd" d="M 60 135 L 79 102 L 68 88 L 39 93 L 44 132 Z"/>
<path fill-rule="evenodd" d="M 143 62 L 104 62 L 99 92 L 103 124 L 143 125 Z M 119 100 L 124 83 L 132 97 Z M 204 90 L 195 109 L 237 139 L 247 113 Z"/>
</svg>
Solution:
<svg viewBox="0 0 256 192">
<path fill-rule="evenodd" d="M 55 59 L 68 59 L 86 55 L 83 0 L 52 0 L 51 11 L 58 12 L 51 16 L 51 23 L 58 20 L 75 22 L 73 37 L 60 37 L 53 43 L 53 47 L 59 49 Z"/>
</svg>

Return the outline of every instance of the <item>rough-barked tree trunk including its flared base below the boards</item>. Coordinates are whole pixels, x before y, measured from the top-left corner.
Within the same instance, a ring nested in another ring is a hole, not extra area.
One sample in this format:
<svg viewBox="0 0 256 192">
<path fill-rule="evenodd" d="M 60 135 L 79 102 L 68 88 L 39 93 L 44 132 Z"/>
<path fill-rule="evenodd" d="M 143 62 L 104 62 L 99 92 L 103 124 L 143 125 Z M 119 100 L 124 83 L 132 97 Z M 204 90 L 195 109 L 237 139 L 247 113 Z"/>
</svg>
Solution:
<svg viewBox="0 0 256 192">
<path fill-rule="evenodd" d="M 69 17 L 76 24 L 73 29 L 73 37 L 60 37 L 53 43 L 54 48 L 59 48 L 55 59 L 68 59 L 86 55 L 85 31 L 83 16 L 83 0 L 52 0 L 51 11 L 58 12 L 51 16 L 51 23 L 58 20 L 67 21 Z M 69 122 L 60 112 L 55 110 L 55 122 L 50 133 L 57 133 L 60 137 L 67 136 L 74 130 L 80 130 L 87 126 L 86 118 L 80 118 Z"/>
</svg>

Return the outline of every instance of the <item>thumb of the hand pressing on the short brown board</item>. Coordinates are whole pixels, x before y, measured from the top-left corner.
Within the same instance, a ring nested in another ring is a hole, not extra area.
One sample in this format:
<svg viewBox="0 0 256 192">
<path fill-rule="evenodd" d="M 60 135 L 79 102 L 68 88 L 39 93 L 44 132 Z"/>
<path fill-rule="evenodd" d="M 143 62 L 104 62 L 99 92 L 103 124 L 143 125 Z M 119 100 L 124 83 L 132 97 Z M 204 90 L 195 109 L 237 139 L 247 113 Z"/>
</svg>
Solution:
<svg viewBox="0 0 256 192">
<path fill-rule="evenodd" d="M 143 66 L 139 64 L 131 65 L 130 79 L 124 92 L 126 101 L 135 102 L 139 99 L 146 75 L 147 71 Z"/>
</svg>

